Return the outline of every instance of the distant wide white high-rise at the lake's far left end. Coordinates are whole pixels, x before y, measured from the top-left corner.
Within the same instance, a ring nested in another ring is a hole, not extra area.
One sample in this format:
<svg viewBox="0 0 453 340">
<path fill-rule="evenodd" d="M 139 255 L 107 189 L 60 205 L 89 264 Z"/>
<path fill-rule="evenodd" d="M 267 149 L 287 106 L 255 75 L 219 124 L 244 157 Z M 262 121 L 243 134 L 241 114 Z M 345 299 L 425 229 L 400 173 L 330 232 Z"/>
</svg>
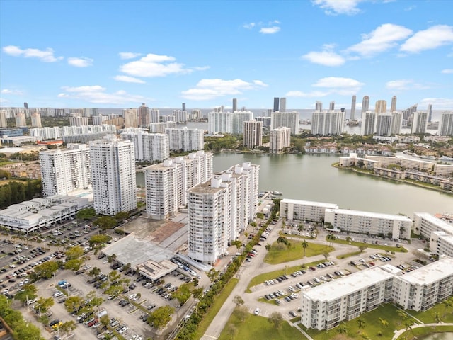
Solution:
<svg viewBox="0 0 453 340">
<path fill-rule="evenodd" d="M 172 151 L 198 151 L 205 147 L 205 131 L 202 129 L 188 129 L 185 126 L 182 129 L 167 128 L 165 133 Z"/>
</svg>

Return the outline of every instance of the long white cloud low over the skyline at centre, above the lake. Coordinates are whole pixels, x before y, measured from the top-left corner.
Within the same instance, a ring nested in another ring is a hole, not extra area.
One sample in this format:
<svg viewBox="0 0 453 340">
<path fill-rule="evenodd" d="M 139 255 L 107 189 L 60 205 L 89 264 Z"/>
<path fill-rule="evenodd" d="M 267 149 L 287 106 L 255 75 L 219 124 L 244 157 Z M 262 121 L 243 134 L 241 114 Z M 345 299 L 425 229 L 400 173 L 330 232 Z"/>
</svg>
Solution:
<svg viewBox="0 0 453 340">
<path fill-rule="evenodd" d="M 222 96 L 242 94 L 242 91 L 260 89 L 265 86 L 268 85 L 260 80 L 248 82 L 241 79 L 202 79 L 198 81 L 195 88 L 183 91 L 182 95 L 186 99 L 206 101 Z"/>
</svg>

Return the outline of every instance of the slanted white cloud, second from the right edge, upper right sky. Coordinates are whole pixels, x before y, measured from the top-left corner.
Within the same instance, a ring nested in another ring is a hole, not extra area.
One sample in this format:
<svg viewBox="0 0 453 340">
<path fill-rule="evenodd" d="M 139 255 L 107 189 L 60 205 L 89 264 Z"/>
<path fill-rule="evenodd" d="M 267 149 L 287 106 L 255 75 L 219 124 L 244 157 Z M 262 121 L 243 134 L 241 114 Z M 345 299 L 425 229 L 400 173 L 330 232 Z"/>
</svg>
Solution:
<svg viewBox="0 0 453 340">
<path fill-rule="evenodd" d="M 389 50 L 397 45 L 399 40 L 406 39 L 412 30 L 393 23 L 384 23 L 369 34 L 362 34 L 362 42 L 352 45 L 348 52 L 357 52 L 359 55 L 369 57 L 379 52 Z"/>
</svg>

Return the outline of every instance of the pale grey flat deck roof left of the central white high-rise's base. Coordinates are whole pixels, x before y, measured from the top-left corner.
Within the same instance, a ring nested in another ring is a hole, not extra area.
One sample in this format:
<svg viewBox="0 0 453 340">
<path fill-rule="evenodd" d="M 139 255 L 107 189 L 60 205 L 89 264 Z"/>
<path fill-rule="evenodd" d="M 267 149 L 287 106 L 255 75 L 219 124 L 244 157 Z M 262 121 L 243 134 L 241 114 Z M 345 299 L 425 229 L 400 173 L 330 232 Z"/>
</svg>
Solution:
<svg viewBox="0 0 453 340">
<path fill-rule="evenodd" d="M 173 251 L 149 240 L 139 239 L 134 234 L 129 234 L 110 244 L 102 252 L 107 256 L 116 254 L 117 261 L 124 264 L 130 263 L 132 268 L 147 261 L 160 263 L 173 257 Z"/>
</svg>

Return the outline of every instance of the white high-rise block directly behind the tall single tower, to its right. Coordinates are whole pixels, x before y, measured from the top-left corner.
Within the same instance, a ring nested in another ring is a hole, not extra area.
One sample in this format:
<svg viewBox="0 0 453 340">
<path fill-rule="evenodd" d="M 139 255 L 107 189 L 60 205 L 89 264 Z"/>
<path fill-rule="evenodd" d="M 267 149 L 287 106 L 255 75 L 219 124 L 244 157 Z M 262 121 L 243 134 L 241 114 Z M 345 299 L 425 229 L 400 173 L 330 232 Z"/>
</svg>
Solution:
<svg viewBox="0 0 453 340">
<path fill-rule="evenodd" d="M 122 140 L 134 144 L 134 157 L 137 161 L 164 161 L 170 157 L 170 144 L 165 133 L 149 133 L 139 128 L 126 129 Z"/>
</svg>

